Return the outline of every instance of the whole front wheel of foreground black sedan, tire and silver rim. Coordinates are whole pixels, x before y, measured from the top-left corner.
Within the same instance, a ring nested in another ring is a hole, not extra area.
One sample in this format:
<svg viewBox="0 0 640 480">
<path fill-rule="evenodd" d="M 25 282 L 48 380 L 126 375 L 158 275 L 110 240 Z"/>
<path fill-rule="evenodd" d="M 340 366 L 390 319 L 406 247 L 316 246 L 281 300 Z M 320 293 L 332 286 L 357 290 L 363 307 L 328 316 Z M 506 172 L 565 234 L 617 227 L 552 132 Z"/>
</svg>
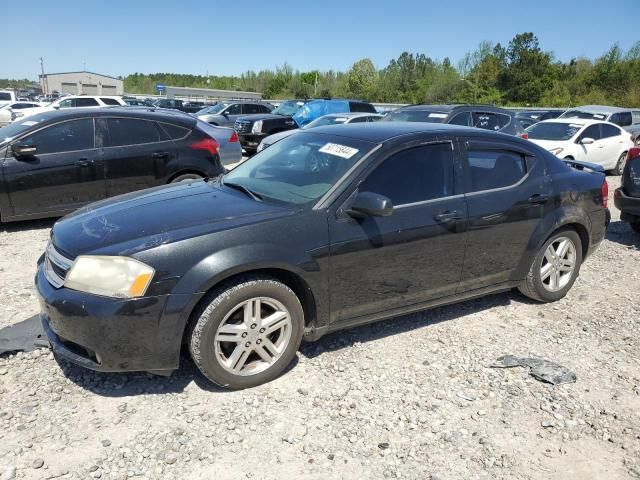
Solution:
<svg viewBox="0 0 640 480">
<path fill-rule="evenodd" d="M 212 294 L 193 326 L 189 350 L 212 382 L 249 388 L 284 371 L 303 329 L 302 305 L 289 287 L 268 277 L 247 278 Z"/>
</svg>

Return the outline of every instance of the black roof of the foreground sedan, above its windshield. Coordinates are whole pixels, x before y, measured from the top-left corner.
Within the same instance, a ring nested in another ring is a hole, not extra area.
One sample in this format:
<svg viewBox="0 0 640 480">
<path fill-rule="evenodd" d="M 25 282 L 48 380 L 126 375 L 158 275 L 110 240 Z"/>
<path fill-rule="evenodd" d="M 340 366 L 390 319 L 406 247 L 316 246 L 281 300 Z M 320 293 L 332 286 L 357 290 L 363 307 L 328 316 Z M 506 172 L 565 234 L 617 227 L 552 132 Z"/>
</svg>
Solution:
<svg viewBox="0 0 640 480">
<path fill-rule="evenodd" d="M 309 133 L 326 133 L 335 136 L 356 138 L 371 143 L 382 143 L 401 135 L 412 133 L 445 133 L 446 135 L 498 135 L 503 139 L 513 139 L 517 137 L 505 135 L 489 130 L 480 130 L 472 127 L 461 127 L 459 125 L 449 125 L 444 123 L 426 122 L 367 122 L 367 123 L 347 123 L 340 125 L 327 125 L 315 127 Z M 523 140 L 524 141 L 524 140 Z"/>
</svg>

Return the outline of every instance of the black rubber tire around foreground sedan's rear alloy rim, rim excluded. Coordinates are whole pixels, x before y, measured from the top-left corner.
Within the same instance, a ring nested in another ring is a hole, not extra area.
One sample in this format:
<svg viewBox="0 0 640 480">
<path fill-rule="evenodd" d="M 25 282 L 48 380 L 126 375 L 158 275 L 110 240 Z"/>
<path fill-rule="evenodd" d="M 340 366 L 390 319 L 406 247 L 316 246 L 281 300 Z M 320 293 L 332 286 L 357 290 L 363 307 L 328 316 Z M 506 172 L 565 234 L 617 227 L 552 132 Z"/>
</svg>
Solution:
<svg viewBox="0 0 640 480">
<path fill-rule="evenodd" d="M 556 291 L 550 291 L 543 283 L 541 268 L 543 266 L 543 261 L 545 260 L 545 252 L 549 245 L 555 243 L 558 239 L 565 237 L 571 242 L 573 242 L 573 247 L 575 249 L 575 266 L 569 277 L 569 281 L 562 288 Z M 520 292 L 539 302 L 555 302 L 563 298 L 567 292 L 571 289 L 574 282 L 578 278 L 580 274 L 580 266 L 582 264 L 582 241 L 580 240 L 580 236 L 578 233 L 571 228 L 563 228 L 555 232 L 553 235 L 549 237 L 549 239 L 544 242 L 540 250 L 538 251 L 536 258 L 529 269 L 529 273 L 527 273 L 526 278 L 522 281 L 518 290 Z"/>
</svg>

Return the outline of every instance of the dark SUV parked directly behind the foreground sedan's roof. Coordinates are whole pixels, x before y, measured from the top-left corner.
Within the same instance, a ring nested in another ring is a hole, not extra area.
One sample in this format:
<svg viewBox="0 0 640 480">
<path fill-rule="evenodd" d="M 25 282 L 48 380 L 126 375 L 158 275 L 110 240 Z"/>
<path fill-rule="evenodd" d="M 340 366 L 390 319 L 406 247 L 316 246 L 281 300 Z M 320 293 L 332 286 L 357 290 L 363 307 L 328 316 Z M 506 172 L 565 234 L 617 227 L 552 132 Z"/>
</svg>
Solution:
<svg viewBox="0 0 640 480">
<path fill-rule="evenodd" d="M 409 105 L 387 113 L 382 121 L 448 123 L 509 135 L 524 133 L 514 112 L 491 105 Z"/>
</svg>

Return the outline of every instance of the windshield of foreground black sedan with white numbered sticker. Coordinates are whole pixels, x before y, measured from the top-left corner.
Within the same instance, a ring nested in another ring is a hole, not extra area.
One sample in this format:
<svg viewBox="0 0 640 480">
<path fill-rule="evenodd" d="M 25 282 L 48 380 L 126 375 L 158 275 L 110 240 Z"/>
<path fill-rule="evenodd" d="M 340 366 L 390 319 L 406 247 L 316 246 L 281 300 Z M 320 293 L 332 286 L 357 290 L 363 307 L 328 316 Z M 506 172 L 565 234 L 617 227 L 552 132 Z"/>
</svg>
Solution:
<svg viewBox="0 0 640 480">
<path fill-rule="evenodd" d="M 374 144 L 312 132 L 291 135 L 224 176 L 259 197 L 304 205 L 317 201 Z"/>
</svg>

